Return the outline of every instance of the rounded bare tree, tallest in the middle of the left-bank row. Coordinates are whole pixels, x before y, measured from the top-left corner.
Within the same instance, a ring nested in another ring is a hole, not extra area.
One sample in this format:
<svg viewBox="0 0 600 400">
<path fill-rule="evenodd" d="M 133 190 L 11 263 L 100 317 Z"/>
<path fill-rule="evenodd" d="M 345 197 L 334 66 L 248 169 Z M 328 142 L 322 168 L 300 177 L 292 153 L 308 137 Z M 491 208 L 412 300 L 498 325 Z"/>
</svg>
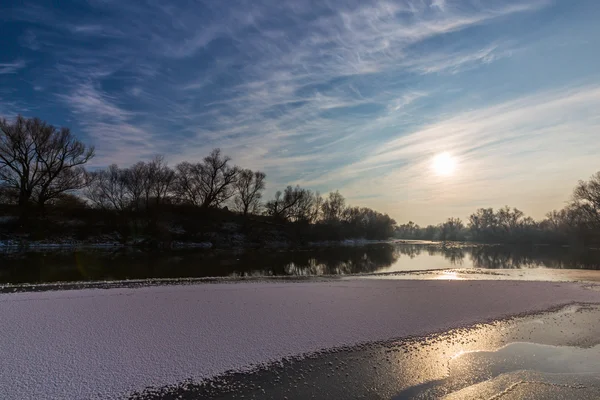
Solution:
<svg viewBox="0 0 600 400">
<path fill-rule="evenodd" d="M 203 208 L 218 207 L 234 194 L 238 167 L 228 165 L 231 159 L 214 149 L 202 163 L 183 162 L 176 167 L 177 193 L 181 199 Z"/>
</svg>

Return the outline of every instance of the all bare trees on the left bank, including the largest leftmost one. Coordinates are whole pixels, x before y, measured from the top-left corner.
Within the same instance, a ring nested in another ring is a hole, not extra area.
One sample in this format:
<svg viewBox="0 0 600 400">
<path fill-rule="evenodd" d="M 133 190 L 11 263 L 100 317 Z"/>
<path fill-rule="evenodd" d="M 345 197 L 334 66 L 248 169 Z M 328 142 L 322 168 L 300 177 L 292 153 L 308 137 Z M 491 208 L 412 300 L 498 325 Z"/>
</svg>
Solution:
<svg viewBox="0 0 600 400">
<path fill-rule="evenodd" d="M 288 186 L 264 201 L 265 173 L 233 165 L 220 149 L 199 162 L 174 167 L 156 156 L 129 167 L 90 171 L 85 164 L 93 157 L 94 148 L 67 128 L 36 118 L 1 119 L 0 204 L 18 207 L 20 226 L 26 228 L 32 217 L 44 216 L 48 206 L 98 210 L 109 215 L 111 226 L 119 225 L 121 233 L 135 231 L 130 236 L 170 229 L 165 228 L 169 223 L 165 216 L 186 213 L 205 219 L 218 214 L 220 222 L 231 214 L 242 217 L 244 225 L 258 218 L 295 226 L 305 239 L 385 239 L 396 228 L 386 214 L 347 206 L 337 191 L 323 197 Z M 189 219 L 182 224 L 191 226 Z"/>
</svg>

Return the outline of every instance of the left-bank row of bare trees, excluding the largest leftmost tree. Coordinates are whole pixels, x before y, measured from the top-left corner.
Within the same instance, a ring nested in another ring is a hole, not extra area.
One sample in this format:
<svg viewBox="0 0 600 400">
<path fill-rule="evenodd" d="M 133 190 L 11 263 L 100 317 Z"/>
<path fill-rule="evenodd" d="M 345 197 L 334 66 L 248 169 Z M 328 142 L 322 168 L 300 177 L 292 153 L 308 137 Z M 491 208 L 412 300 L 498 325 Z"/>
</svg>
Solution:
<svg viewBox="0 0 600 400">
<path fill-rule="evenodd" d="M 185 161 L 173 169 L 157 156 L 129 168 L 111 165 L 94 171 L 83 196 L 95 207 L 117 212 L 185 205 L 263 215 L 279 223 L 326 226 L 336 237 L 389 238 L 394 234 L 392 218 L 369 208 L 346 206 L 338 191 L 324 198 L 310 189 L 288 186 L 263 202 L 265 181 L 264 172 L 232 166 L 229 157 L 214 149 L 201 162 Z"/>
</svg>

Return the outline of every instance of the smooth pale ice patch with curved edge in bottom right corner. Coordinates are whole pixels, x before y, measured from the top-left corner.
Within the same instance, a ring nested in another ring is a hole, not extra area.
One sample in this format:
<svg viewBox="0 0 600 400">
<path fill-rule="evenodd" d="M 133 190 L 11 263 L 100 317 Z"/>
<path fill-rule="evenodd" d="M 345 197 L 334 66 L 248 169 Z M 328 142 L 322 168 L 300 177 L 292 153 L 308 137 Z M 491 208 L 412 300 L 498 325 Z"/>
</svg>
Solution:
<svg viewBox="0 0 600 400">
<path fill-rule="evenodd" d="M 577 389 L 583 386 L 595 385 L 594 393 L 599 393 L 598 357 L 600 346 L 579 348 L 527 342 L 510 343 L 495 351 L 460 352 L 448 361 L 445 378 L 406 389 L 393 399 L 493 399 L 519 386 L 524 387 L 526 396 L 518 398 L 530 398 L 539 394 L 536 384 L 572 389 L 556 398 L 581 399 L 582 393 Z"/>
</svg>

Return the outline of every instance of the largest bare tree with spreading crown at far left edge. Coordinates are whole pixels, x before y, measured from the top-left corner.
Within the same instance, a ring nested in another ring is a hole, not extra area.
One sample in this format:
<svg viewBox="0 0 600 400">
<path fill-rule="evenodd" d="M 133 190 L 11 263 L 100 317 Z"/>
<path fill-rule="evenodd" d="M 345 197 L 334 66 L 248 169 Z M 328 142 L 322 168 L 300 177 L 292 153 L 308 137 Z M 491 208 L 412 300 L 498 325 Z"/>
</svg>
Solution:
<svg viewBox="0 0 600 400">
<path fill-rule="evenodd" d="M 32 197 L 48 200 L 85 184 L 82 166 L 94 156 L 67 128 L 57 129 L 37 118 L 0 120 L 0 181 L 19 192 L 26 208 Z"/>
</svg>

